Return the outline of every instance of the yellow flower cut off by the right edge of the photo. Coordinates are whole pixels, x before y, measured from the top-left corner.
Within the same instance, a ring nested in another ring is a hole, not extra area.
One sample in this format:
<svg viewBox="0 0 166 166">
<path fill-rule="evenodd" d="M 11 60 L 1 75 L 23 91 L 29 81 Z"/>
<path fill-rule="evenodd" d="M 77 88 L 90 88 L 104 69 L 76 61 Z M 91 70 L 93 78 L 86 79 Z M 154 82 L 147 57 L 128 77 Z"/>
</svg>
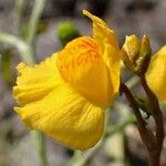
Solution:
<svg viewBox="0 0 166 166">
<path fill-rule="evenodd" d="M 157 97 L 166 102 L 166 45 L 152 58 L 146 81 Z"/>
</svg>

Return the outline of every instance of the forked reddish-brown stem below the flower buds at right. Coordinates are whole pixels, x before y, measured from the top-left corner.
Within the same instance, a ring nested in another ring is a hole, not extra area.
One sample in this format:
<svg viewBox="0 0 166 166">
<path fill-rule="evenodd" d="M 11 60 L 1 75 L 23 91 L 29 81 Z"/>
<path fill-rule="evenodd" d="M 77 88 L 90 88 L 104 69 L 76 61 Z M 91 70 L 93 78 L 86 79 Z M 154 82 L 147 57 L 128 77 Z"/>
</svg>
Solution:
<svg viewBox="0 0 166 166">
<path fill-rule="evenodd" d="M 164 139 L 163 114 L 159 108 L 156 96 L 153 94 L 153 92 L 149 90 L 149 87 L 146 84 L 145 77 L 141 76 L 141 81 L 148 98 L 151 100 L 152 115 L 156 123 L 156 135 L 154 135 L 153 131 L 149 128 L 145 120 L 142 117 L 142 114 L 139 112 L 139 106 L 135 97 L 133 96 L 129 89 L 124 83 L 121 83 L 121 92 L 126 95 L 126 98 L 128 100 L 133 108 L 133 113 L 137 118 L 138 131 L 142 141 L 147 148 L 149 166 L 159 166 L 159 158 L 160 158 L 160 152 L 163 146 L 163 139 Z"/>
</svg>

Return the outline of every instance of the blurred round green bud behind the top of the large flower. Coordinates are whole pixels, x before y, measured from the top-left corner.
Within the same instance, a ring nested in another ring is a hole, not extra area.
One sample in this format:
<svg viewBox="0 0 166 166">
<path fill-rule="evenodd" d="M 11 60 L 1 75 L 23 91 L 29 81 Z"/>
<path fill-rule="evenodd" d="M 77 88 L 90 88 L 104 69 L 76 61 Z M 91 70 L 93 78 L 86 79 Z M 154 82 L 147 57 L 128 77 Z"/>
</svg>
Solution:
<svg viewBox="0 0 166 166">
<path fill-rule="evenodd" d="M 59 23 L 58 38 L 61 41 L 62 45 L 65 45 L 71 40 L 79 37 L 80 37 L 80 32 L 73 23 L 69 21 Z"/>
</svg>

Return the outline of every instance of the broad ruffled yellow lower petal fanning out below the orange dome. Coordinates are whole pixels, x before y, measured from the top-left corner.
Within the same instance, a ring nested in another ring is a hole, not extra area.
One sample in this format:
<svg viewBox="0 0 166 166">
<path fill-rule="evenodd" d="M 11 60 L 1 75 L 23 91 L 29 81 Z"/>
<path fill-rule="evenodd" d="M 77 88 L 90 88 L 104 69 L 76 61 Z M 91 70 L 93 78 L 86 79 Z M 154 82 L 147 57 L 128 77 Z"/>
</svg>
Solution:
<svg viewBox="0 0 166 166">
<path fill-rule="evenodd" d="M 21 75 L 13 95 L 22 106 L 14 110 L 28 127 L 42 131 L 71 148 L 84 151 L 101 138 L 104 112 L 61 79 L 55 56 L 34 68 L 19 65 Z"/>
</svg>

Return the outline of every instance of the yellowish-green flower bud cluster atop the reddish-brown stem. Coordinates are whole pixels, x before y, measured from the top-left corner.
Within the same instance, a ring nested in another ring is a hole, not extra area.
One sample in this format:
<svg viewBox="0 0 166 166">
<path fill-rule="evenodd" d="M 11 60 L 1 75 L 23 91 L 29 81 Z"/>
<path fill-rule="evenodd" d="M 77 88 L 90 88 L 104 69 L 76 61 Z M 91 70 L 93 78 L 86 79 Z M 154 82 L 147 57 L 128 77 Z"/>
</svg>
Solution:
<svg viewBox="0 0 166 166">
<path fill-rule="evenodd" d="M 147 35 L 142 41 L 136 35 L 126 37 L 125 43 L 121 50 L 121 58 L 126 68 L 137 75 L 146 72 L 151 60 L 151 44 Z"/>
</svg>

